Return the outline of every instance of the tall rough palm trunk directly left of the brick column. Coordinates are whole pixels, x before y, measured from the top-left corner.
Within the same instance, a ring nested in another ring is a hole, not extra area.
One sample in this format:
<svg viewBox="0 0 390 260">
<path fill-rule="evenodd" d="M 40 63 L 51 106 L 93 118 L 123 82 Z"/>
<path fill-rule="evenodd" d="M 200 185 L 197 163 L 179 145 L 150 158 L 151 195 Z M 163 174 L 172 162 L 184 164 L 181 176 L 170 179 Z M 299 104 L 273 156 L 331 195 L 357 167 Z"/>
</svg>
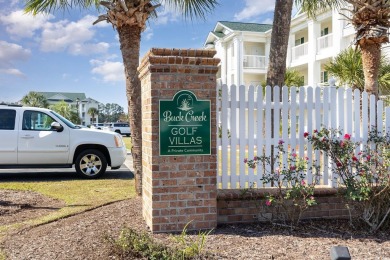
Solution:
<svg viewBox="0 0 390 260">
<path fill-rule="evenodd" d="M 131 126 L 135 190 L 142 194 L 142 113 L 141 82 L 138 78 L 138 64 L 141 28 L 138 25 L 123 25 L 117 29 L 126 75 L 126 96 Z"/>
</svg>

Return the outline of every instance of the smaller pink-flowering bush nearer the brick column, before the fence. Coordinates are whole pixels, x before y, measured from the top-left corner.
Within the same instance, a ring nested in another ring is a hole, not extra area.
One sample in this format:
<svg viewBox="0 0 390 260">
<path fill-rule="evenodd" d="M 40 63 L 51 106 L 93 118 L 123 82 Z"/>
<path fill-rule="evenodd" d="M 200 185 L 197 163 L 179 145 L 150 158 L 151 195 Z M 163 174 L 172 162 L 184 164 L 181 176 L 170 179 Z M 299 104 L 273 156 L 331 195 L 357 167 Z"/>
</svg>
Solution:
<svg viewBox="0 0 390 260">
<path fill-rule="evenodd" d="M 259 164 L 264 170 L 261 180 L 264 184 L 271 184 L 277 188 L 273 194 L 266 196 L 265 205 L 273 207 L 274 215 L 278 220 L 297 224 L 302 213 L 316 204 L 314 188 L 319 182 L 319 167 L 308 167 L 309 158 L 300 158 L 297 153 L 288 153 L 283 147 L 283 140 L 279 141 L 277 152 L 271 156 L 255 156 L 252 160 L 245 159 L 249 168 L 256 168 Z M 287 158 L 283 164 L 282 158 Z M 271 165 L 271 171 L 267 170 Z M 313 181 L 306 182 L 308 170 L 313 172 Z"/>
</svg>

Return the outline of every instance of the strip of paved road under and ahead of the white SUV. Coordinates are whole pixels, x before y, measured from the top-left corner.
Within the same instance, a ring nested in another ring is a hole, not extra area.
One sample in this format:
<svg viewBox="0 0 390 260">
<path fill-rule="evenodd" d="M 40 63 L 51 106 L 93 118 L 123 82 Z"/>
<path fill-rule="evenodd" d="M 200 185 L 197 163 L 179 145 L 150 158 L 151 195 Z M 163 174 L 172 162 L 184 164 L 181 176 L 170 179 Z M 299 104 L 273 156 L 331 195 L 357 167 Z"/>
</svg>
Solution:
<svg viewBox="0 0 390 260">
<path fill-rule="evenodd" d="M 101 179 L 132 179 L 134 175 L 131 155 L 127 155 L 125 163 L 120 169 L 111 170 L 107 167 L 106 173 Z M 20 179 L 46 180 L 46 179 L 75 179 L 79 178 L 73 168 L 50 168 L 50 169 L 0 169 L 0 182 L 20 181 Z"/>
</svg>

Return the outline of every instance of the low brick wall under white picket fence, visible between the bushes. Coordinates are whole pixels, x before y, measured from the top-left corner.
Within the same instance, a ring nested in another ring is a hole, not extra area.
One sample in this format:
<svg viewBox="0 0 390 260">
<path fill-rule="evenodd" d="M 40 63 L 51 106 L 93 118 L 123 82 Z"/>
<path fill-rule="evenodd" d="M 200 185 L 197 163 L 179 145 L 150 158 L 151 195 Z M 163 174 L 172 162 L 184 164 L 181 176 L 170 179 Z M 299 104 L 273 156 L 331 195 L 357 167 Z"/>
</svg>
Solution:
<svg viewBox="0 0 390 260">
<path fill-rule="evenodd" d="M 265 195 L 274 189 L 262 190 L 218 190 L 218 224 L 250 223 L 267 216 Z M 337 189 L 318 188 L 315 191 L 317 205 L 304 212 L 302 219 L 313 218 L 349 218 L 345 201 L 337 194 Z"/>
</svg>

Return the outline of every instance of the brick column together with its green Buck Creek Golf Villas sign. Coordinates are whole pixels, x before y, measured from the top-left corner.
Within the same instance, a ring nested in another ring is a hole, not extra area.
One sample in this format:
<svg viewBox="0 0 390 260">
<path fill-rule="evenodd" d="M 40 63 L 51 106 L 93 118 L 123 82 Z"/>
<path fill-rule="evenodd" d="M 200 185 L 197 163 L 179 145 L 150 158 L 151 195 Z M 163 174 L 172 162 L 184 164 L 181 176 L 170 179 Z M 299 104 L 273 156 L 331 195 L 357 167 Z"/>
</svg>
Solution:
<svg viewBox="0 0 390 260">
<path fill-rule="evenodd" d="M 217 225 L 215 51 L 151 49 L 142 84 L 142 211 L 152 232 Z"/>
</svg>

